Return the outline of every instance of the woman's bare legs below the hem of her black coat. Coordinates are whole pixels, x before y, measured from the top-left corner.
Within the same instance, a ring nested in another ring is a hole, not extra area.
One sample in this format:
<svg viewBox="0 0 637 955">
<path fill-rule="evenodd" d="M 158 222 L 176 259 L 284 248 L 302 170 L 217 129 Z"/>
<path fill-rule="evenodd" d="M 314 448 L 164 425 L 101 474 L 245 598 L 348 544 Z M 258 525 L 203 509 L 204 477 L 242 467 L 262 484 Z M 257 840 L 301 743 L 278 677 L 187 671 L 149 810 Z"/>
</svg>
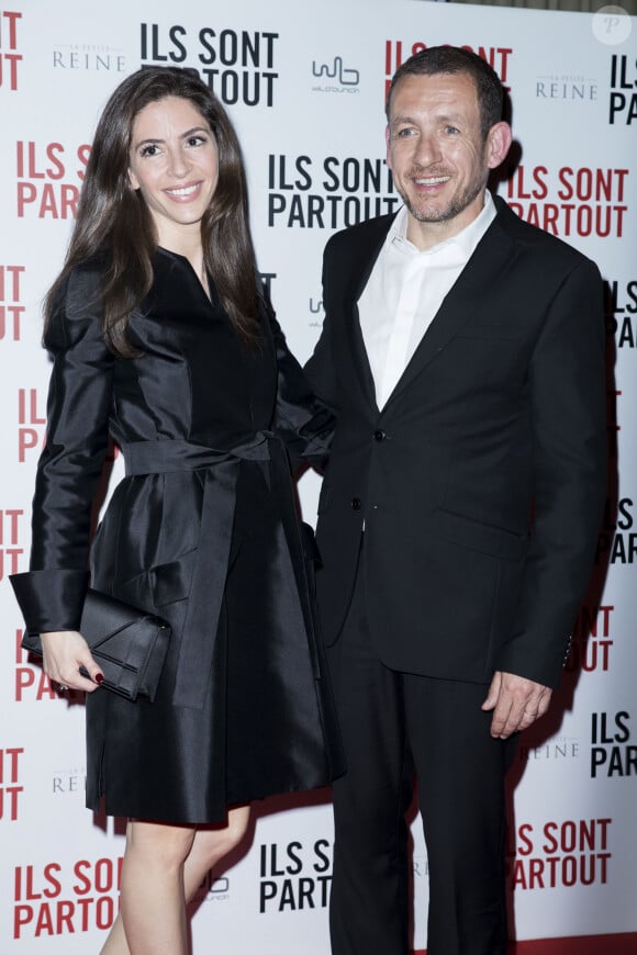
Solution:
<svg viewBox="0 0 637 955">
<path fill-rule="evenodd" d="M 197 831 L 130 822 L 122 867 L 123 919 L 115 919 L 101 955 L 186 955 L 186 905 L 212 866 L 241 842 L 249 812 L 248 806 L 231 809 L 223 829 Z M 188 845 L 179 863 L 179 846 Z"/>
</svg>

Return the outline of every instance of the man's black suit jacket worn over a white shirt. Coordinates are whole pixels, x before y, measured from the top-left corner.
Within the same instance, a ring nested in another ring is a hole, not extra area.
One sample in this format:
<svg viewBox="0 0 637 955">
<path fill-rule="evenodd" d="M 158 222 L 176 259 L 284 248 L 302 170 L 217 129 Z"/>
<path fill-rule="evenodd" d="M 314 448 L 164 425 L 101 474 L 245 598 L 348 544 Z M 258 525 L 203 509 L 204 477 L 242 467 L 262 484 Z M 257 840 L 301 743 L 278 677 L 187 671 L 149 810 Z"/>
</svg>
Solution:
<svg viewBox="0 0 637 955">
<path fill-rule="evenodd" d="M 318 502 L 327 643 L 365 527 L 372 636 L 390 667 L 560 678 L 605 495 L 602 284 L 570 246 L 498 215 L 384 407 L 357 300 L 393 216 L 334 235 L 306 370 L 337 414 Z"/>
</svg>

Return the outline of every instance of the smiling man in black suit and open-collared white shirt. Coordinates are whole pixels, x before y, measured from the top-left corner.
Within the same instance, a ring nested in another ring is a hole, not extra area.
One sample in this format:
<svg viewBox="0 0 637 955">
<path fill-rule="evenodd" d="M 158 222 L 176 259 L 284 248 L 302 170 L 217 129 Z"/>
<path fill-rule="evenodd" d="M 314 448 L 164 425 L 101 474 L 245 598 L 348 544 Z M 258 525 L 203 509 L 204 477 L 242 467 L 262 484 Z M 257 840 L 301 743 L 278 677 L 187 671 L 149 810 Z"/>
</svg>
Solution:
<svg viewBox="0 0 637 955">
<path fill-rule="evenodd" d="M 478 56 L 396 72 L 404 207 L 332 237 L 308 371 L 337 414 L 318 599 L 348 771 L 334 955 L 406 955 L 418 780 L 428 955 L 504 955 L 503 783 L 549 705 L 605 492 L 597 269 L 487 191 L 503 91 Z M 533 515 L 533 516 L 532 516 Z"/>
</svg>

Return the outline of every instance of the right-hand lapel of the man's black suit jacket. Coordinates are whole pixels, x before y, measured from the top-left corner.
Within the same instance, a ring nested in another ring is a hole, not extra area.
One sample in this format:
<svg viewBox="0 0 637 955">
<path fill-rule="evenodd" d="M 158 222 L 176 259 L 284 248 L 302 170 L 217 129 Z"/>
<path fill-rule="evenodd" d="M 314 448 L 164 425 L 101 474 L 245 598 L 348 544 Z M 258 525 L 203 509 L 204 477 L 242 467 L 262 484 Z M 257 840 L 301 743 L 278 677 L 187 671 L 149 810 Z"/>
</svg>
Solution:
<svg viewBox="0 0 637 955">
<path fill-rule="evenodd" d="M 489 301 L 490 292 L 502 277 L 503 271 L 516 258 L 516 247 L 505 229 L 502 228 L 502 218 L 501 212 L 487 229 L 476 251 L 443 300 L 436 316 L 389 396 L 383 413 L 449 341 L 471 322 L 476 311 Z"/>
</svg>

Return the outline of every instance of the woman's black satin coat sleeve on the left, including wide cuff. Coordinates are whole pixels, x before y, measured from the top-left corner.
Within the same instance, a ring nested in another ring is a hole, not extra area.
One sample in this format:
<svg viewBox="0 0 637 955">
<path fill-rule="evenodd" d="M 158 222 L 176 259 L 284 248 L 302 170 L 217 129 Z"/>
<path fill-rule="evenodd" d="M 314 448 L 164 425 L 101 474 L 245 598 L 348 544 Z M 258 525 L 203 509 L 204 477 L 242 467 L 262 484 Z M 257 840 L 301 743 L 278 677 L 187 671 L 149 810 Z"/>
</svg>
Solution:
<svg viewBox="0 0 637 955">
<path fill-rule="evenodd" d="M 75 271 L 45 336 L 53 371 L 30 571 L 11 580 L 32 632 L 77 630 L 88 586 L 92 501 L 108 448 L 114 361 L 99 313 L 99 277 L 89 269 Z"/>
</svg>

